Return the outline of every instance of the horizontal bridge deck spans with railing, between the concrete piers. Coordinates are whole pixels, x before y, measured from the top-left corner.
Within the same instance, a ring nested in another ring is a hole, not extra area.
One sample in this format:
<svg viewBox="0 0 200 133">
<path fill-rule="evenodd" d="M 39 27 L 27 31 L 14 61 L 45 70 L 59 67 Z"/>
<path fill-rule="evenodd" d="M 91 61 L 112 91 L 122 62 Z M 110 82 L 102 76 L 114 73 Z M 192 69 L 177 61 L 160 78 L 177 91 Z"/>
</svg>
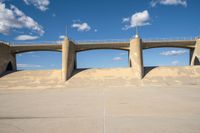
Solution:
<svg viewBox="0 0 200 133">
<path fill-rule="evenodd" d="M 142 42 L 143 49 L 159 47 L 177 47 L 194 49 L 195 40 L 176 40 L 176 41 L 145 41 Z M 76 44 L 76 52 L 92 49 L 120 49 L 129 50 L 130 42 L 89 42 Z M 12 53 L 23 53 L 29 51 L 61 51 L 61 44 L 22 44 L 11 46 Z"/>
</svg>

